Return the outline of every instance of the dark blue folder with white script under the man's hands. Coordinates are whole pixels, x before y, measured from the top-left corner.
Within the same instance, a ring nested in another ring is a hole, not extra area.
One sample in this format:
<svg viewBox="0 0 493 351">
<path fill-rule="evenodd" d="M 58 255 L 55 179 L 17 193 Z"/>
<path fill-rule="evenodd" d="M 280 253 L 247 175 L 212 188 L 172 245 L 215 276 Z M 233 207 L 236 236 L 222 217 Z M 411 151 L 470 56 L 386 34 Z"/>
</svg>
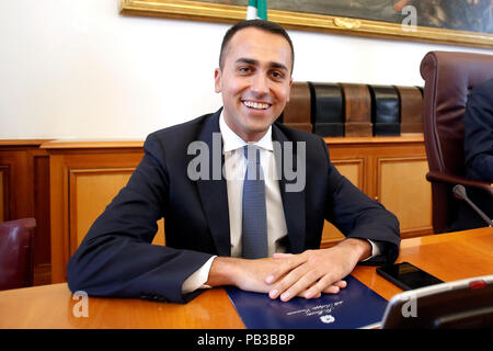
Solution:
<svg viewBox="0 0 493 351">
<path fill-rule="evenodd" d="M 352 275 L 344 280 L 347 286 L 336 295 L 287 303 L 231 286 L 227 292 L 249 329 L 355 329 L 380 322 L 387 301 Z"/>
</svg>

